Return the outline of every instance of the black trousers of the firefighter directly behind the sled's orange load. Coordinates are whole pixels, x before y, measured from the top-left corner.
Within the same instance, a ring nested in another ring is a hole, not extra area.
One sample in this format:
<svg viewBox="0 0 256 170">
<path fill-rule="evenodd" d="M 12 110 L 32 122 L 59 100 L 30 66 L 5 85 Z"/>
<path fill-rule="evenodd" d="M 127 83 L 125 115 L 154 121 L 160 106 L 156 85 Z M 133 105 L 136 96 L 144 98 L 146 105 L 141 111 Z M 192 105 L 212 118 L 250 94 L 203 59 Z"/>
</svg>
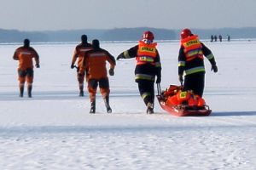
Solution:
<svg viewBox="0 0 256 170">
<path fill-rule="evenodd" d="M 195 94 L 202 97 L 205 88 L 205 72 L 197 72 L 185 76 L 184 90 L 193 90 Z"/>
</svg>

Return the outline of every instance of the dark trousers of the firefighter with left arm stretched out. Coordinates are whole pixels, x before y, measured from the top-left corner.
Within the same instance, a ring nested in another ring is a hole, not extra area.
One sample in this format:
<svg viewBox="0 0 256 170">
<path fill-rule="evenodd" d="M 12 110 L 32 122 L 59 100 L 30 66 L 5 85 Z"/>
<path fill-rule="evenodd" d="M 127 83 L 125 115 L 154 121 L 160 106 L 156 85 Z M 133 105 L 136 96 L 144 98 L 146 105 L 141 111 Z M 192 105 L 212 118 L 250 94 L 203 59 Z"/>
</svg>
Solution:
<svg viewBox="0 0 256 170">
<path fill-rule="evenodd" d="M 148 80 L 137 80 L 137 84 L 145 105 L 148 105 L 148 102 L 154 104 L 154 82 Z"/>
</svg>

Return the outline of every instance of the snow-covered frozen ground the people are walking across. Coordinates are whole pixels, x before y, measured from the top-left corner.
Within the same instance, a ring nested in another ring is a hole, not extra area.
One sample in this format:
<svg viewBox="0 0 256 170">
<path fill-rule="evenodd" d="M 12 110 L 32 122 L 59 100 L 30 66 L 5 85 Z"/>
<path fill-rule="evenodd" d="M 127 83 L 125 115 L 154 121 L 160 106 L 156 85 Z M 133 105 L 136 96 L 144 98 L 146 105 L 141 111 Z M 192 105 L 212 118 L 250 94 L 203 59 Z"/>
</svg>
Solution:
<svg viewBox="0 0 256 170">
<path fill-rule="evenodd" d="M 32 44 L 33 98 L 18 97 L 18 45 L 0 44 L 0 169 L 256 169 L 256 42 L 206 42 L 218 63 L 207 76 L 207 117 L 145 114 L 134 82 L 134 59 L 117 62 L 110 77 L 112 114 L 101 96 L 89 114 L 70 69 L 75 43 Z M 117 56 L 135 45 L 102 43 Z M 178 42 L 160 42 L 162 89 L 177 82 Z"/>
</svg>

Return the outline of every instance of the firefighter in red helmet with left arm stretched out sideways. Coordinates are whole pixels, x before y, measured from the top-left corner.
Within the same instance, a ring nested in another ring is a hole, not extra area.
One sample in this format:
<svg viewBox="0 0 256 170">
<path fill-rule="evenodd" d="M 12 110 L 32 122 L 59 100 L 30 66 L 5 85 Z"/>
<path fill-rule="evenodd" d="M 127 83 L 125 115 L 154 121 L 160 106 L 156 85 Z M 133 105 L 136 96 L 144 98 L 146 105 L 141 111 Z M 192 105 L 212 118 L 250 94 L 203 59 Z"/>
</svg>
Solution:
<svg viewBox="0 0 256 170">
<path fill-rule="evenodd" d="M 156 42 L 153 42 L 154 34 L 145 31 L 143 38 L 138 45 L 119 54 L 117 59 L 136 58 L 135 82 L 138 84 L 139 92 L 147 106 L 147 113 L 154 113 L 154 81 L 161 82 L 160 55 L 156 49 Z"/>
</svg>

